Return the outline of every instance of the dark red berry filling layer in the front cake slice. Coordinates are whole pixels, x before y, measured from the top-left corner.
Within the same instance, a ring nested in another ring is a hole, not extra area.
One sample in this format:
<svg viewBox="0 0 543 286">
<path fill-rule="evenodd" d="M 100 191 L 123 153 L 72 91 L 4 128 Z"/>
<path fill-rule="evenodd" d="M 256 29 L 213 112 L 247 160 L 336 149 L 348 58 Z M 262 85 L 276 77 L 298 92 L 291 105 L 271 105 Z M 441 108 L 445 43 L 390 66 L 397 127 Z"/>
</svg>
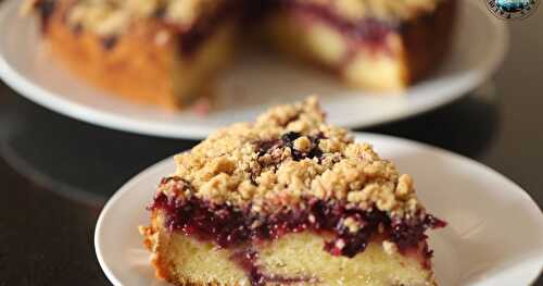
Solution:
<svg viewBox="0 0 543 286">
<path fill-rule="evenodd" d="M 178 179 L 165 178 L 163 184 Z M 289 233 L 314 231 L 333 234 L 334 238 L 326 243 L 325 249 L 334 256 L 345 257 L 364 251 L 368 241 L 376 236 L 394 241 L 400 250 L 416 248 L 427 238 L 425 232 L 428 228 L 445 225 L 443 221 L 426 213 L 413 215 L 409 220 L 391 221 L 387 213 L 377 209 L 368 212 L 349 208 L 346 203 L 328 203 L 312 198 L 304 206 L 262 215 L 252 212 L 251 206 L 240 209 L 213 204 L 195 197 L 171 198 L 160 192 L 151 209 L 164 212 L 165 224 L 172 232 L 180 231 L 223 248 L 273 240 Z M 343 220 L 348 217 L 359 222 L 363 227 L 356 233 L 349 232 L 343 226 Z"/>
</svg>

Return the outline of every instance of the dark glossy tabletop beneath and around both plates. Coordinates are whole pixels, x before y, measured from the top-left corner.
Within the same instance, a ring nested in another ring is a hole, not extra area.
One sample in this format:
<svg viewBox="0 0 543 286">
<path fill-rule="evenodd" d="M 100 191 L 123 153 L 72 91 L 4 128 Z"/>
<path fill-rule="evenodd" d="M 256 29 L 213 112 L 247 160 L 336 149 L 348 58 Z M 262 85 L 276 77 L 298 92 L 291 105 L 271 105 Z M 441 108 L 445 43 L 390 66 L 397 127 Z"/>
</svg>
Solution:
<svg viewBox="0 0 543 286">
<path fill-rule="evenodd" d="M 518 183 L 541 207 L 543 11 L 508 25 L 510 51 L 492 82 L 446 107 L 362 130 L 472 158 Z M 0 82 L 0 182 L 7 196 L 0 200 L 0 286 L 108 285 L 93 249 L 101 208 L 139 171 L 195 144 L 81 123 Z"/>
</svg>

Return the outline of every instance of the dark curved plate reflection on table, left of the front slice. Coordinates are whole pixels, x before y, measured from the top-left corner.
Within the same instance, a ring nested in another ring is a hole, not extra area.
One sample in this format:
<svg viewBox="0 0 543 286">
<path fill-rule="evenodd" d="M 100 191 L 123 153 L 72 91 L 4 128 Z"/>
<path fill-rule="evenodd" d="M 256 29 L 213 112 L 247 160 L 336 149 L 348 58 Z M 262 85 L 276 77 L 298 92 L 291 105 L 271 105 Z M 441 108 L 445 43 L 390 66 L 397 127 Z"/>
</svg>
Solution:
<svg viewBox="0 0 543 286">
<path fill-rule="evenodd" d="M 119 133 L 53 113 L 13 95 L 0 115 L 0 153 L 17 172 L 72 199 L 103 203 L 129 177 L 193 146 Z"/>
</svg>

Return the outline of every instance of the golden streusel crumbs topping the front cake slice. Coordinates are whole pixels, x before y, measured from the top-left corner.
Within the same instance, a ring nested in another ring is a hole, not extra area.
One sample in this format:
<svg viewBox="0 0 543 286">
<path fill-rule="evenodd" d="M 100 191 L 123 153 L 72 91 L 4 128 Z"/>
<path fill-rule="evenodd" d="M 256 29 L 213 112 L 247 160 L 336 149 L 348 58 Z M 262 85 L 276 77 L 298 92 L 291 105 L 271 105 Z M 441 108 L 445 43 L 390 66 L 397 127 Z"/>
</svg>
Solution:
<svg viewBox="0 0 543 286">
<path fill-rule="evenodd" d="M 396 217 L 421 209 L 413 179 L 370 145 L 354 142 L 346 129 L 327 125 L 315 97 L 220 129 L 176 161 L 178 179 L 171 184 L 178 186 L 160 190 L 168 197 L 195 196 L 264 213 L 304 208 L 312 199 Z"/>
</svg>

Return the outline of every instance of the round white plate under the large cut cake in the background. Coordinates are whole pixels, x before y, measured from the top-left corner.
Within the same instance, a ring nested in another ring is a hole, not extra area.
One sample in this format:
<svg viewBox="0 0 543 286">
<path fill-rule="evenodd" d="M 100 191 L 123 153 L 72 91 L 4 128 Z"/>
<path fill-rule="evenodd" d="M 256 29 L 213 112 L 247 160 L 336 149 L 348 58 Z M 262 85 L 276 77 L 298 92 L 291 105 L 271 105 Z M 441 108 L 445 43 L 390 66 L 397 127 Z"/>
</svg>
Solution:
<svg viewBox="0 0 543 286">
<path fill-rule="evenodd" d="M 364 127 L 443 105 L 481 85 L 502 62 L 508 43 L 503 22 L 482 1 L 459 0 L 453 52 L 444 66 L 404 96 L 353 91 L 330 77 L 275 57 L 241 57 L 217 90 L 207 116 L 139 105 L 94 89 L 71 75 L 45 51 L 37 21 L 21 17 L 21 1 L 0 9 L 0 76 L 28 99 L 89 123 L 147 135 L 203 138 L 225 124 L 254 119 L 264 109 L 311 94 L 321 96 L 329 121 Z M 481 40 L 484 38 L 484 40 Z"/>
</svg>

